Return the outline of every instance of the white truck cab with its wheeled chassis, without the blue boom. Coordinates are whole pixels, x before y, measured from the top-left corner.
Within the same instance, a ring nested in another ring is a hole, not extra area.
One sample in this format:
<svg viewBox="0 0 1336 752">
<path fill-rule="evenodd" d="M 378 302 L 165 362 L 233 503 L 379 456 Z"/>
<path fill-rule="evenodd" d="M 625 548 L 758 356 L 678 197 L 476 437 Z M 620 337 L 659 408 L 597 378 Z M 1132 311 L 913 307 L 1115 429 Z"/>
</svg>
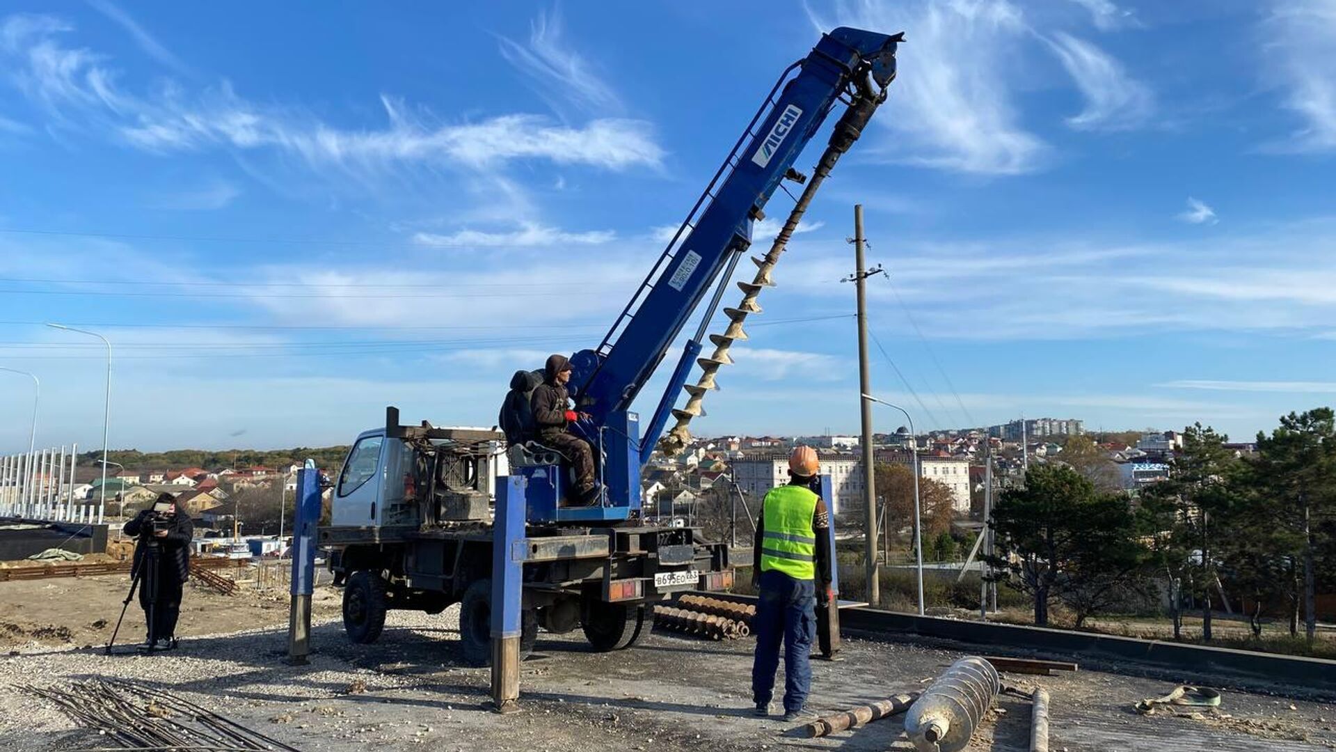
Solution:
<svg viewBox="0 0 1336 752">
<path fill-rule="evenodd" d="M 343 587 L 343 628 L 374 642 L 386 613 L 460 603 L 464 661 L 490 660 L 493 514 L 509 467 L 505 438 L 480 428 L 398 424 L 358 435 L 330 490 L 321 546 Z M 728 550 L 689 527 L 530 523 L 525 530 L 521 652 L 538 629 L 582 629 L 597 650 L 635 644 L 645 609 L 683 590 L 732 586 Z"/>
</svg>

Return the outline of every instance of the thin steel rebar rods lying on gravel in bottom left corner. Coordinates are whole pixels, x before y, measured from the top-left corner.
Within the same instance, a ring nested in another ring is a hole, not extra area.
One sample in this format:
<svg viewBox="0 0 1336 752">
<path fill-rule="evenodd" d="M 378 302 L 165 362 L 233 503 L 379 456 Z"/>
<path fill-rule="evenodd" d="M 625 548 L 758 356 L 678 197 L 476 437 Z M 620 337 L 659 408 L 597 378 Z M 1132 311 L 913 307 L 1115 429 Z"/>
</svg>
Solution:
<svg viewBox="0 0 1336 752">
<path fill-rule="evenodd" d="M 23 686 L 126 749 L 278 749 L 299 752 L 163 689 L 91 680 L 68 689 Z"/>
</svg>

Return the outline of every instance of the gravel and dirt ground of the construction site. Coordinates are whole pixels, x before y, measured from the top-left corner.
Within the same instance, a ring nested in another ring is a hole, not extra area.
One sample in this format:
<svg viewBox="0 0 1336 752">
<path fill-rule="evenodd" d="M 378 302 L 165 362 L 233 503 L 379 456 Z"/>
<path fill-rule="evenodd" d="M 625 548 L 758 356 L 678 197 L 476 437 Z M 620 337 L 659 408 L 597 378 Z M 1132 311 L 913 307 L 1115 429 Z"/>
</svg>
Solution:
<svg viewBox="0 0 1336 752">
<path fill-rule="evenodd" d="M 522 666 L 522 711 L 498 716 L 488 709 L 489 670 L 458 660 L 456 607 L 393 612 L 377 644 L 353 645 L 338 620 L 338 591 L 322 587 L 311 662 L 289 666 L 286 598 L 191 587 L 176 652 L 106 656 L 98 645 L 111 626 L 94 625 L 115 622 L 126 586 L 120 577 L 0 583 L 0 629 L 9 630 L 0 656 L 0 749 L 107 747 L 21 689 L 96 677 L 170 688 L 302 751 L 911 749 L 899 719 L 806 739 L 778 719 L 751 717 L 751 640 L 655 632 L 631 650 L 600 654 L 578 632 L 542 633 Z M 124 641 L 142 638 L 135 605 L 126 621 Z M 916 690 L 967 654 L 888 637 L 846 640 L 842 661 L 814 661 L 808 707 L 843 709 Z M 1244 692 L 1226 681 L 1220 712 L 1140 716 L 1132 704 L 1174 681 L 1110 669 L 1118 666 L 1007 680 L 1051 692 L 1054 751 L 1336 749 L 1336 707 L 1305 698 L 1303 688 Z M 970 749 L 1027 749 L 1029 723 L 1026 701 L 1002 697 Z"/>
</svg>

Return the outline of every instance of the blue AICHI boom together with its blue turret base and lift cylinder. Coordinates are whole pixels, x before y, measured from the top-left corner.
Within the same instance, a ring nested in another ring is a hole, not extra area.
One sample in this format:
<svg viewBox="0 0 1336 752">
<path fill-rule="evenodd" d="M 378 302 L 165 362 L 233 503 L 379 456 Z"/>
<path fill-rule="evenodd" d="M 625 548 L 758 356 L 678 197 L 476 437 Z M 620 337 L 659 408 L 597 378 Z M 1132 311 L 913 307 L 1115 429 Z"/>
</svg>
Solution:
<svg viewBox="0 0 1336 752">
<path fill-rule="evenodd" d="M 676 438 L 681 444 L 685 420 L 700 415 L 701 392 L 715 388 L 713 369 L 729 363 L 728 344 L 744 336 L 739 313 L 745 316 L 748 310 L 728 309 L 735 326 L 728 333 L 712 335 L 715 355 L 699 357 L 704 329 L 737 260 L 751 246 L 752 225 L 764 217 L 763 209 L 780 181 L 806 182 L 764 261 L 772 266 L 818 186 L 886 99 L 886 87 L 895 78 L 899 41 L 902 35 L 838 28 L 822 35 L 807 58 L 784 71 L 603 343 L 570 359 L 568 388 L 576 397 L 576 409 L 591 415 L 574 430 L 591 442 L 601 460 L 605 488 L 601 506 L 564 507 L 566 478 L 558 466 L 516 466 L 512 472 L 526 479 L 529 522 L 589 523 L 640 516 L 640 468 L 660 440 L 669 416 L 679 420 L 665 440 Z M 794 170 L 794 163 L 838 102 L 846 104 L 846 110 L 808 179 Z M 763 260 L 756 264 L 768 274 Z M 687 341 L 641 436 L 632 403 L 716 281 L 700 331 Z M 752 288 L 758 285 L 739 285 L 755 296 Z M 705 373 L 697 384 L 687 384 L 695 364 Z M 676 395 L 683 389 L 692 400 L 685 408 L 673 409 Z M 504 483 L 501 479 L 498 486 Z"/>
</svg>

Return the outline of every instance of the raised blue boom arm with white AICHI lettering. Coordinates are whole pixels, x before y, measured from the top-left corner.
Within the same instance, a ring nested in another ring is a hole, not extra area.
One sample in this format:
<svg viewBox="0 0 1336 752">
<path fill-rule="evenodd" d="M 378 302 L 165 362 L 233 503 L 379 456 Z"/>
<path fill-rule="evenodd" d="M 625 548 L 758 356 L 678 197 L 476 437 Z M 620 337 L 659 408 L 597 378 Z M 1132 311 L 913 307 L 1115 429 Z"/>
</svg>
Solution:
<svg viewBox="0 0 1336 752">
<path fill-rule="evenodd" d="M 580 409 L 591 413 L 597 426 L 604 426 L 612 413 L 629 409 L 720 273 L 727 269 L 731 274 L 739 254 L 751 245 L 752 225 L 764 217 L 763 207 L 779 182 L 786 178 L 804 181 L 792 170 L 794 162 L 835 103 L 843 102 L 847 108 L 835 126 L 830 146 L 767 258 L 772 264 L 771 257 L 783 252 L 811 194 L 886 99 L 886 87 L 895 78 L 896 44 L 902 39 L 903 35 L 836 28 L 823 35 L 807 58 L 780 76 L 603 344 L 573 356 L 572 391 Z M 775 91 L 779 91 L 778 98 Z M 756 260 L 758 266 L 764 261 Z M 747 292 L 747 284 L 741 286 Z M 721 292 L 720 285 L 705 321 L 713 314 Z M 644 456 L 664 428 L 673 395 L 685 384 L 691 359 L 700 352 L 701 336 L 703 332 L 697 333 L 689 344 L 669 392 L 648 424 L 641 443 Z M 716 344 L 719 339 L 715 337 Z M 707 365 L 705 359 L 701 360 L 701 365 Z M 699 396 L 693 387 L 688 391 Z"/>
</svg>

